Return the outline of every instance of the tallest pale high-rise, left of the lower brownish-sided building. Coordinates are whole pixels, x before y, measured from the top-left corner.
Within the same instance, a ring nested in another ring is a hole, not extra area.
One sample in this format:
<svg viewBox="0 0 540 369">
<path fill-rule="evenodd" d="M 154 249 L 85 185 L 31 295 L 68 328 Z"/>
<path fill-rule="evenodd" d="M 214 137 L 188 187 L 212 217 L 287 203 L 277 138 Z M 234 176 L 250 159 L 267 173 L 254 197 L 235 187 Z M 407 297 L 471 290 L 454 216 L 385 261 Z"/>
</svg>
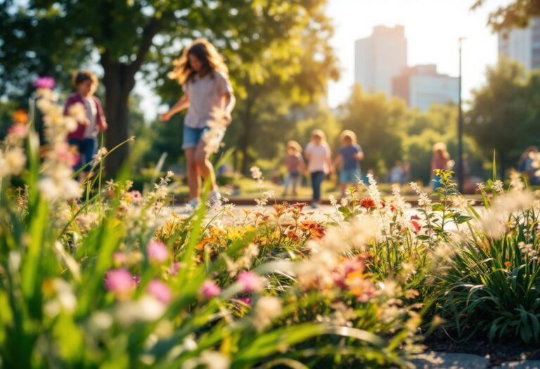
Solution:
<svg viewBox="0 0 540 369">
<path fill-rule="evenodd" d="M 373 34 L 354 44 L 354 82 L 366 91 L 392 96 L 392 78 L 407 65 L 407 40 L 403 26 L 377 26 Z"/>
</svg>

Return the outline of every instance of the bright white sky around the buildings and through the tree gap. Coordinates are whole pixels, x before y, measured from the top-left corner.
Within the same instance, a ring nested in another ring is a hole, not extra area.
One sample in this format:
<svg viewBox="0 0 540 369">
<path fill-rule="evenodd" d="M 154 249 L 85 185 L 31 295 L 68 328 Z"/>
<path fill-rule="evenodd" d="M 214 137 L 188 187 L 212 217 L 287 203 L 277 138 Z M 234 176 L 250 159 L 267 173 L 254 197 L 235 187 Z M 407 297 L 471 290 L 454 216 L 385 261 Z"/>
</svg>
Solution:
<svg viewBox="0 0 540 369">
<path fill-rule="evenodd" d="M 409 65 L 436 64 L 439 73 L 457 76 L 458 38 L 463 41 L 463 99 L 484 83 L 485 70 L 497 61 L 497 37 L 487 27 L 487 18 L 510 0 L 487 0 L 470 10 L 474 0 L 328 0 L 327 13 L 335 33 L 330 44 L 338 56 L 341 78 L 328 86 L 328 105 L 344 102 L 354 84 L 354 41 L 371 35 L 376 25 L 403 25 L 408 41 Z M 155 118 L 160 99 L 139 82 L 141 108 L 147 120 Z"/>
</svg>

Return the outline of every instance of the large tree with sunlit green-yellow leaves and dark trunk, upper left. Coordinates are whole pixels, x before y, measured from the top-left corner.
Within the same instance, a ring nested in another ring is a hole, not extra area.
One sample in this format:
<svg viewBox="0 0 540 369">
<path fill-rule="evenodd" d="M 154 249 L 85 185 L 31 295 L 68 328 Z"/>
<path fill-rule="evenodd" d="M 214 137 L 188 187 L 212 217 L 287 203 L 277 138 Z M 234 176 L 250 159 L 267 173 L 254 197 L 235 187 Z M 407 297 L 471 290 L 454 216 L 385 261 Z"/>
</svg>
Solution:
<svg viewBox="0 0 540 369">
<path fill-rule="evenodd" d="M 23 94 L 37 75 L 66 81 L 68 71 L 98 61 L 110 122 L 107 145 L 113 147 L 129 136 L 128 101 L 138 72 L 157 87 L 167 84 L 165 72 L 171 61 L 189 40 L 205 37 L 223 51 L 233 78 L 261 85 L 274 76 L 276 59 L 301 58 L 290 53 L 289 45 L 299 46 L 304 30 L 325 30 L 325 4 L 326 0 L 34 0 L 22 4 L 0 0 L 4 72 L 0 89 Z M 302 77 L 299 63 L 291 64 L 293 71 L 282 74 L 282 80 Z M 312 81 L 319 79 L 307 80 Z M 240 96 L 243 90 L 247 96 L 242 84 L 236 88 Z M 126 155 L 125 147 L 111 155 L 110 171 L 116 171 Z"/>
</svg>

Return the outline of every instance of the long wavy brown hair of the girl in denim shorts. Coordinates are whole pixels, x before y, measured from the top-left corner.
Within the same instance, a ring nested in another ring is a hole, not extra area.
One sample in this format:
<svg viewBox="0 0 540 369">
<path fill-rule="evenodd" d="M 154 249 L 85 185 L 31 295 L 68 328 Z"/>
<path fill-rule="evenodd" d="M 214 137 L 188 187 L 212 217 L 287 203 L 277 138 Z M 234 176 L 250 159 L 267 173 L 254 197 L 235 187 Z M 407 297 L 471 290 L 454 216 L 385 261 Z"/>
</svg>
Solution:
<svg viewBox="0 0 540 369">
<path fill-rule="evenodd" d="M 169 72 L 170 79 L 177 79 L 180 84 L 184 84 L 197 74 L 189 63 L 188 56 L 193 55 L 203 63 L 203 74 L 211 72 L 222 72 L 229 74 L 223 58 L 219 55 L 214 45 L 205 39 L 196 39 L 188 48 L 184 48 L 184 53 L 180 58 L 172 62 L 174 66 L 172 72 Z"/>
</svg>

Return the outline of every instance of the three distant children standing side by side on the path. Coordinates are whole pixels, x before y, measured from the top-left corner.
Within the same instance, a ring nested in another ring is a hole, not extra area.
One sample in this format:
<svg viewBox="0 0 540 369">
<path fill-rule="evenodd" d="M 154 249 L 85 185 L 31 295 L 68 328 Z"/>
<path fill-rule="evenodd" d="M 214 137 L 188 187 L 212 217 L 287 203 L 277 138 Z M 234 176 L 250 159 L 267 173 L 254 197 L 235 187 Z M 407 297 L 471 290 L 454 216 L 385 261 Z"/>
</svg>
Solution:
<svg viewBox="0 0 540 369">
<path fill-rule="evenodd" d="M 287 195 L 289 187 L 292 187 L 292 194 L 296 195 L 296 188 L 302 179 L 304 171 L 309 172 L 311 177 L 311 188 L 313 190 L 313 201 L 311 207 L 319 207 L 321 200 L 321 184 L 328 174 L 335 172 L 335 167 L 340 166 L 340 187 L 341 195 L 349 186 L 357 188 L 361 178 L 360 161 L 364 159 L 364 152 L 356 143 L 356 134 L 346 129 L 340 134 L 342 146 L 338 150 L 338 155 L 332 161 L 332 151 L 326 142 L 326 135 L 321 129 L 311 132 L 311 141 L 304 150 L 307 165 L 302 157 L 302 146 L 297 141 L 288 141 L 287 156 L 284 164 L 287 168 L 283 195 Z"/>
</svg>

